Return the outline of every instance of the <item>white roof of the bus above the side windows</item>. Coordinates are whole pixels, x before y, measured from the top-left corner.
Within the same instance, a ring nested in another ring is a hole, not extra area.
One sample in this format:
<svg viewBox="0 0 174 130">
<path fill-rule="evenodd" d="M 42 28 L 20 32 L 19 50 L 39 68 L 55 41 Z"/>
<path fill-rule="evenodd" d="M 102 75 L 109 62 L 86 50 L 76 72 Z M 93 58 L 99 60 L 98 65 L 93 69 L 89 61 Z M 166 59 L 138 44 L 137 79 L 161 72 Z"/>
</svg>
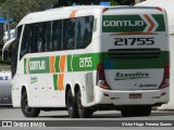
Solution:
<svg viewBox="0 0 174 130">
<path fill-rule="evenodd" d="M 73 11 L 89 11 L 94 14 L 95 11 L 101 11 L 102 9 L 157 9 L 154 6 L 103 6 L 103 5 L 76 5 L 76 6 L 63 6 L 58 9 L 50 9 L 41 12 L 29 13 L 22 18 L 17 26 L 30 23 L 47 22 L 53 20 L 69 18 Z"/>
</svg>

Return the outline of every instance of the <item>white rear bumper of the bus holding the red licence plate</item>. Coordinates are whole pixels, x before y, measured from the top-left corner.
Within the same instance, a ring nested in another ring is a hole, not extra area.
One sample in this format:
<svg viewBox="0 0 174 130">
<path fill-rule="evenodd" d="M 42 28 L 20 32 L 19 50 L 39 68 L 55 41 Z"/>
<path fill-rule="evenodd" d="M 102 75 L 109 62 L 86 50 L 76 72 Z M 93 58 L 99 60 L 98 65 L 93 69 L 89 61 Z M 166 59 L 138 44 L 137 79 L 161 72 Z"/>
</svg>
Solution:
<svg viewBox="0 0 174 130">
<path fill-rule="evenodd" d="M 104 90 L 96 87 L 96 104 L 156 105 L 169 102 L 169 88 L 159 90 Z"/>
</svg>

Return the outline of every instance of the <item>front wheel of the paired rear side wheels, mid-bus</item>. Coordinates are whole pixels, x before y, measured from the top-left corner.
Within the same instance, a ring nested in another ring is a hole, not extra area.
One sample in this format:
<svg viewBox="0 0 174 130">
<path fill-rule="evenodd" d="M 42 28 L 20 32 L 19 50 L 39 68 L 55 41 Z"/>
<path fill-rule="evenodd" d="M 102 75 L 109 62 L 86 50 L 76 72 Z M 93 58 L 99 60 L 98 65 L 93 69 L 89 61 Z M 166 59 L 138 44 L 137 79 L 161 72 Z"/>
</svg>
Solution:
<svg viewBox="0 0 174 130">
<path fill-rule="evenodd" d="M 77 112 L 77 100 L 76 100 L 76 96 L 73 96 L 71 89 L 67 91 L 66 107 L 67 107 L 70 118 L 79 117 Z"/>
</svg>

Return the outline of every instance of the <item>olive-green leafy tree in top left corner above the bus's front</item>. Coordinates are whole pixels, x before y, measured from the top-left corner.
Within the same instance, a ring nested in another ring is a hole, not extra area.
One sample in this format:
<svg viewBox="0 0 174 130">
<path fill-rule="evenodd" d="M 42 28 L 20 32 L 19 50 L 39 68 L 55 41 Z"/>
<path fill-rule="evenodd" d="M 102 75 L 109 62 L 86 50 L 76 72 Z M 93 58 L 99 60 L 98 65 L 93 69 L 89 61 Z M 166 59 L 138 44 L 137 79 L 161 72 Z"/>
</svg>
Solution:
<svg viewBox="0 0 174 130">
<path fill-rule="evenodd" d="M 2 1 L 2 0 L 1 0 Z M 9 0 L 10 1 L 10 0 Z M 9 2 L 11 16 L 18 23 L 26 14 L 52 8 L 59 0 L 13 0 Z M 8 0 L 0 5 L 3 17 L 7 15 Z"/>
</svg>

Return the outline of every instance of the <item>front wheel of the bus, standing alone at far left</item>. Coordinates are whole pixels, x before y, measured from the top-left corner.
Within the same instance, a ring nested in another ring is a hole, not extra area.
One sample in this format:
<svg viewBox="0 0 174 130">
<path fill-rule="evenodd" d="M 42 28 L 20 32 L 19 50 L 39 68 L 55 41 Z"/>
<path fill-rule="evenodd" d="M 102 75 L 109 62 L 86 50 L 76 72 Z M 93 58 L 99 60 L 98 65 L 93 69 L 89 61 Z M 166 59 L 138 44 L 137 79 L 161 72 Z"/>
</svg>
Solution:
<svg viewBox="0 0 174 130">
<path fill-rule="evenodd" d="M 38 117 L 40 114 L 39 108 L 34 108 L 28 106 L 27 93 L 26 91 L 22 94 L 21 108 L 25 117 Z"/>
</svg>

